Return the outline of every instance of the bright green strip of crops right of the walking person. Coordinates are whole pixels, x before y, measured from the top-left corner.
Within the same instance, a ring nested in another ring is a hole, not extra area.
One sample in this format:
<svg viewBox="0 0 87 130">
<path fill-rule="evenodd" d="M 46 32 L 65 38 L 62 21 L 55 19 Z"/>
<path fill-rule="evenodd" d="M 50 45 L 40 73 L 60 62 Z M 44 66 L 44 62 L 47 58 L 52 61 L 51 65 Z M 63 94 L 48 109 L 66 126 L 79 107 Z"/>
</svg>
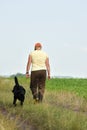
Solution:
<svg viewBox="0 0 87 130">
<path fill-rule="evenodd" d="M 87 79 L 51 79 L 47 82 L 48 90 L 66 90 L 87 99 Z"/>
</svg>

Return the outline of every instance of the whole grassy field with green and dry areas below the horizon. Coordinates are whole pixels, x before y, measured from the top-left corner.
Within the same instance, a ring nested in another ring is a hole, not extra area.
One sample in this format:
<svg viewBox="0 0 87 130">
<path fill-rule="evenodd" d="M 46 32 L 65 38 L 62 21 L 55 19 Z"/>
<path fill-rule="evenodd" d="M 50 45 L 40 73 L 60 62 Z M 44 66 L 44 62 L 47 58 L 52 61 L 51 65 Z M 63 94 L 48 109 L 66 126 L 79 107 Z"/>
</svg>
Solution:
<svg viewBox="0 0 87 130">
<path fill-rule="evenodd" d="M 43 103 L 34 104 L 29 79 L 23 107 L 12 105 L 13 78 L 0 77 L 0 130 L 87 130 L 87 79 L 46 81 Z"/>
</svg>

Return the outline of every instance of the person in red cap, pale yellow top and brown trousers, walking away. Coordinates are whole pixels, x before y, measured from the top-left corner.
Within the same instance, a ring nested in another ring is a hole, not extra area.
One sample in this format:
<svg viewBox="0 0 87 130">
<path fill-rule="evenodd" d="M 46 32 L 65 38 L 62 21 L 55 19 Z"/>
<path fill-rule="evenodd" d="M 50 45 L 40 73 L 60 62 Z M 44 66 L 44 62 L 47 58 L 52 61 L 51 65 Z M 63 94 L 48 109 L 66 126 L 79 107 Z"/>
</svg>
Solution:
<svg viewBox="0 0 87 130">
<path fill-rule="evenodd" d="M 33 99 L 35 102 L 42 102 L 46 77 L 50 79 L 50 64 L 48 55 L 42 51 L 41 43 L 36 43 L 34 51 L 29 54 L 26 66 L 26 78 L 28 77 Z"/>
</svg>

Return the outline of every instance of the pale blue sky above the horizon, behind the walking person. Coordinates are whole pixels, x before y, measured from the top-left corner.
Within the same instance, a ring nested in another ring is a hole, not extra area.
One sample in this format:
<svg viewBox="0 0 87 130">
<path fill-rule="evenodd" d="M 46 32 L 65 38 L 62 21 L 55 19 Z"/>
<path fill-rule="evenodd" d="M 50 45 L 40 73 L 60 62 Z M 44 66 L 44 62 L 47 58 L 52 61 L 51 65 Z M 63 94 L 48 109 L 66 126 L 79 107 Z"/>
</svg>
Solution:
<svg viewBox="0 0 87 130">
<path fill-rule="evenodd" d="M 51 76 L 87 77 L 87 0 L 0 0 L 0 75 L 26 73 L 36 42 Z"/>
</svg>

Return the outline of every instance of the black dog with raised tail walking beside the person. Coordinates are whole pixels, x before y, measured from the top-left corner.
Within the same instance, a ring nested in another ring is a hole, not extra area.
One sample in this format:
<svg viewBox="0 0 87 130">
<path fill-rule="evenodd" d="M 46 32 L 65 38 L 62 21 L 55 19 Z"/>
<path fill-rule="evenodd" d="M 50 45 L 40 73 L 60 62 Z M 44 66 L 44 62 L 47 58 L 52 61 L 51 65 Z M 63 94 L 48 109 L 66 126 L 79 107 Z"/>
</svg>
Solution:
<svg viewBox="0 0 87 130">
<path fill-rule="evenodd" d="M 14 94 L 13 104 L 16 106 L 16 101 L 18 99 L 20 101 L 20 104 L 23 105 L 26 90 L 24 89 L 23 86 L 19 85 L 17 77 L 15 77 L 14 80 L 15 80 L 15 86 L 13 87 L 12 90 Z"/>
</svg>

